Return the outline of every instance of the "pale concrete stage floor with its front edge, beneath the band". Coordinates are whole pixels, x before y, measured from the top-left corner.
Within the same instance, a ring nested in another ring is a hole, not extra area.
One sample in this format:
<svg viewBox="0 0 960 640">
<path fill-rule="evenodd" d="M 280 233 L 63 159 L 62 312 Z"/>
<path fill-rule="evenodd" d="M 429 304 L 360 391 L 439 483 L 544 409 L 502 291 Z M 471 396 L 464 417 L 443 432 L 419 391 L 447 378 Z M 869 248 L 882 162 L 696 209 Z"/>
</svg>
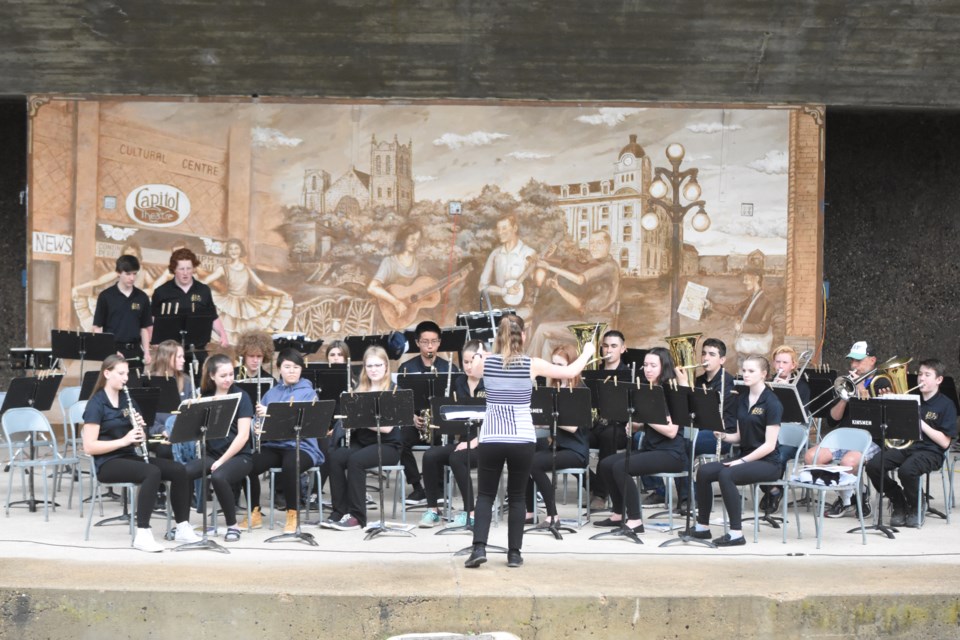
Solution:
<svg viewBox="0 0 960 640">
<path fill-rule="evenodd" d="M 4 493 L 8 480 L 0 474 Z M 932 504 L 942 508 L 938 476 L 931 485 Z M 66 504 L 65 493 L 58 499 Z M 108 516 L 119 512 L 116 502 L 105 508 Z M 572 504 L 560 510 L 575 516 Z M 409 521 L 420 513 L 409 512 Z M 199 524 L 199 515 L 191 517 Z M 72 510 L 61 507 L 49 522 L 42 510 L 24 507 L 0 517 L 0 638 L 495 630 L 521 638 L 960 636 L 958 526 L 936 518 L 920 530 L 901 529 L 894 540 L 868 533 L 866 545 L 859 533 L 846 533 L 855 519 L 827 520 L 820 550 L 805 511 L 803 539 L 791 522 L 787 544 L 765 525 L 754 544 L 751 519 L 747 545 L 730 549 L 659 548 L 671 536 L 649 530 L 643 545 L 591 541 L 599 529 L 588 524 L 563 540 L 526 535 L 519 569 L 492 553 L 481 568 L 466 569 L 464 557 L 453 554 L 470 538 L 434 535 L 438 529 L 365 541 L 359 531 L 305 527 L 319 543 L 308 547 L 266 544 L 280 531 L 265 527 L 245 532 L 229 555 L 148 554 L 130 548 L 125 526 L 94 528 L 84 542 L 85 522 L 76 496 Z M 161 531 L 163 518 L 153 525 Z M 505 522 L 491 530 L 490 543 L 505 545 Z"/>
</svg>

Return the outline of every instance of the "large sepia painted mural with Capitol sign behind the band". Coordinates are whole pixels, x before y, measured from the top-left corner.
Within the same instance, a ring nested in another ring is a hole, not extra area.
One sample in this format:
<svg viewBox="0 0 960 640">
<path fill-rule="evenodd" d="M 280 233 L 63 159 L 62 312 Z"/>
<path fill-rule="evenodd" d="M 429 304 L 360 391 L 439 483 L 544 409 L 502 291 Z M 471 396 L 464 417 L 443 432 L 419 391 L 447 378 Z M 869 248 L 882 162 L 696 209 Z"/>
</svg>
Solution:
<svg viewBox="0 0 960 640">
<path fill-rule="evenodd" d="M 732 351 L 813 339 L 788 327 L 789 277 L 816 278 L 789 273 L 793 200 L 822 172 L 792 164 L 822 130 L 795 126 L 799 108 L 35 105 L 30 278 L 55 280 L 31 287 L 38 346 L 90 328 L 117 256 L 141 259 L 149 294 L 183 246 L 231 342 L 491 307 L 528 319 L 536 355 L 584 321 L 641 347 L 693 331 Z"/>
</svg>

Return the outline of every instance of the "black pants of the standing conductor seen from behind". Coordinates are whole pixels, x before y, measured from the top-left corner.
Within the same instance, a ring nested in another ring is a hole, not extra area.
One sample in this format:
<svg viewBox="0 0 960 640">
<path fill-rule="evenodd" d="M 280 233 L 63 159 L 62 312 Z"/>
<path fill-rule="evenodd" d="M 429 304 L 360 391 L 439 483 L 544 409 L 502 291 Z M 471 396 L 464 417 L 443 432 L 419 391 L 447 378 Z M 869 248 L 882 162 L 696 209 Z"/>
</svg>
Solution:
<svg viewBox="0 0 960 640">
<path fill-rule="evenodd" d="M 500 486 L 503 465 L 507 465 L 507 540 L 511 551 L 523 546 L 523 525 L 526 519 L 523 494 L 530 478 L 530 465 L 537 445 L 533 442 L 506 444 L 482 443 L 477 448 L 477 510 L 474 518 L 473 543 L 486 544 L 493 518 L 493 500 Z"/>
</svg>

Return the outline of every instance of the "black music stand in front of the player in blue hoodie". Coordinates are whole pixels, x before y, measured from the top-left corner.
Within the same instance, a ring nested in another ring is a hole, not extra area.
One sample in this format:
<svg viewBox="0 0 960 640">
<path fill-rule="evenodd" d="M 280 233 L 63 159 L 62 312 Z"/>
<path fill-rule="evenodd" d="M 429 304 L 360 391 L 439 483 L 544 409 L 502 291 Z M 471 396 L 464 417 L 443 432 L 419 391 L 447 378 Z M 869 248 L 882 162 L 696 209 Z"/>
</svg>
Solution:
<svg viewBox="0 0 960 640">
<path fill-rule="evenodd" d="M 312 533 L 300 530 L 300 440 L 302 438 L 323 438 L 327 435 L 330 421 L 333 419 L 333 410 L 336 402 L 321 400 L 313 402 L 271 402 L 268 407 L 270 413 L 261 427 L 261 440 L 293 440 L 296 443 L 296 473 L 297 490 L 297 529 L 293 533 L 283 533 L 267 538 L 266 542 L 283 542 L 294 540 L 305 542 L 316 547 L 317 541 Z M 259 482 L 259 478 L 256 480 Z M 319 487 L 317 487 L 319 490 Z M 323 517 L 321 511 L 321 519 Z"/>
</svg>

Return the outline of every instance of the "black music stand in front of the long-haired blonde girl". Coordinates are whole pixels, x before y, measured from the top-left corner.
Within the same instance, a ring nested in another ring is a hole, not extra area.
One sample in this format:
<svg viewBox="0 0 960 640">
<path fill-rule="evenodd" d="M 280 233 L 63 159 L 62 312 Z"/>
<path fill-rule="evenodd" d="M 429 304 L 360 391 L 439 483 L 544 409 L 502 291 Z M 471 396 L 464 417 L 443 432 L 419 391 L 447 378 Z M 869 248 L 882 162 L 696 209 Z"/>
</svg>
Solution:
<svg viewBox="0 0 960 640">
<path fill-rule="evenodd" d="M 367 531 L 364 540 L 381 533 L 397 533 L 415 537 L 412 531 L 390 527 L 383 510 L 383 438 L 381 427 L 400 427 L 413 422 L 413 392 L 409 389 L 393 391 L 363 391 L 340 396 L 340 411 L 345 416 L 344 429 L 366 429 L 371 424 L 377 433 L 377 481 L 380 491 L 380 523 Z"/>
</svg>

